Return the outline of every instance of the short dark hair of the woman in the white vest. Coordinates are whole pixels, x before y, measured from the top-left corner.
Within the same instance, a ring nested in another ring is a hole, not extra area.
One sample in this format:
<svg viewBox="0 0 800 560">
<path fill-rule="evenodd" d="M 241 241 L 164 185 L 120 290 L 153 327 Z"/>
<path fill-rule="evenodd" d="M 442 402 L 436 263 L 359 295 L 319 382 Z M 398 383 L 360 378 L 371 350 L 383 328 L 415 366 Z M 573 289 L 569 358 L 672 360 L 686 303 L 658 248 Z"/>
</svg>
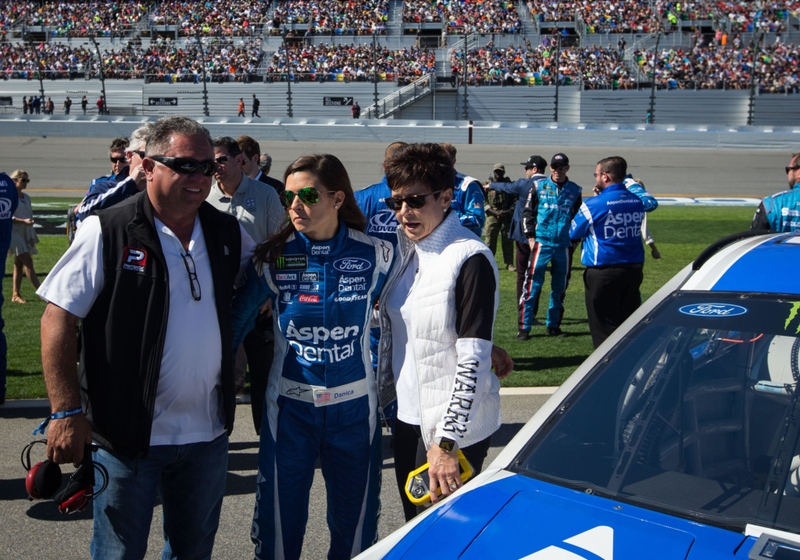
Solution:
<svg viewBox="0 0 800 560">
<path fill-rule="evenodd" d="M 420 184 L 430 192 L 452 189 L 456 170 L 439 144 L 408 144 L 384 161 L 386 182 L 394 190 Z"/>
</svg>

